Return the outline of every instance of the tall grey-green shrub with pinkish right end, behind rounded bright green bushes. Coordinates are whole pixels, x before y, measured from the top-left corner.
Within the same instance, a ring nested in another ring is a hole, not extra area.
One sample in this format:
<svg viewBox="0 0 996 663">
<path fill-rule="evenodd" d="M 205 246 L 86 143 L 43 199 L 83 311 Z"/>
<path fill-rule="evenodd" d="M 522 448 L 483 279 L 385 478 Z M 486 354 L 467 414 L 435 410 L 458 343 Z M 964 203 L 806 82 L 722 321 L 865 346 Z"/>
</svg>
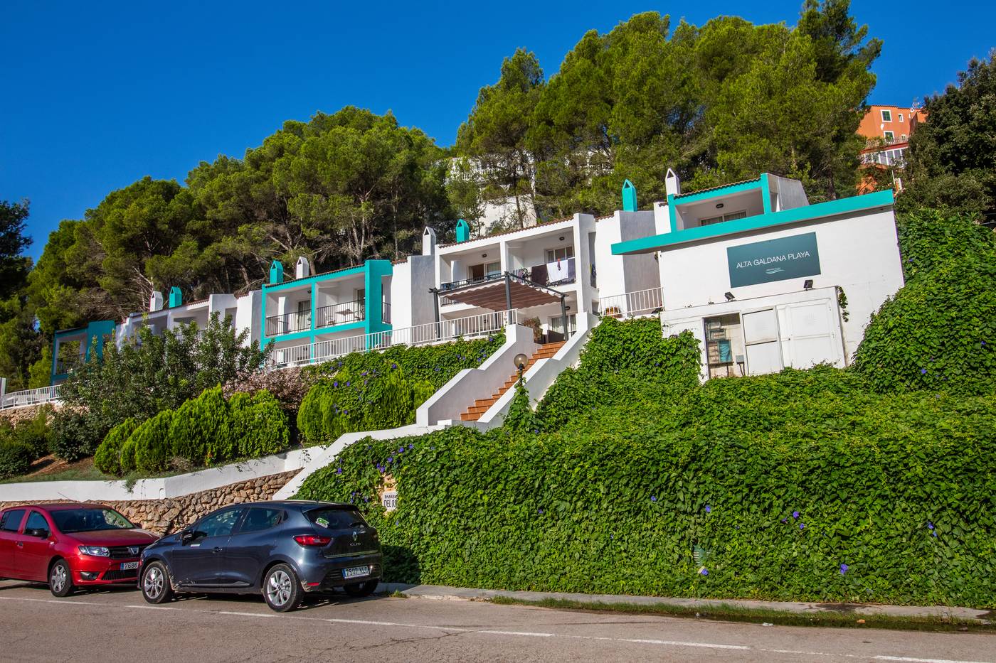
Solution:
<svg viewBox="0 0 996 663">
<path fill-rule="evenodd" d="M 66 431 L 57 434 L 56 453 L 89 456 L 128 418 L 144 421 L 204 389 L 247 378 L 266 358 L 257 342 L 243 345 L 247 333 L 235 333 L 215 315 L 203 330 L 190 325 L 153 334 L 146 327 L 121 349 L 107 343 L 103 360 L 78 367 L 61 387 L 70 407 L 56 417 L 57 431 Z"/>
</svg>

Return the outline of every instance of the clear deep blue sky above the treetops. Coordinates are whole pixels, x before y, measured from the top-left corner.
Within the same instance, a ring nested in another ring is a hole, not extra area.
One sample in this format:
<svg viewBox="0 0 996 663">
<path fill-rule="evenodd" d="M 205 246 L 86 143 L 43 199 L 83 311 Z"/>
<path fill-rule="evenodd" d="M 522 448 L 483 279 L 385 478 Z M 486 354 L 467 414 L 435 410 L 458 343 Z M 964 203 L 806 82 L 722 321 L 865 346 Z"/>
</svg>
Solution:
<svg viewBox="0 0 996 663">
<path fill-rule="evenodd" d="M 0 199 L 31 200 L 37 257 L 60 220 L 82 218 L 110 191 L 146 174 L 182 181 L 200 160 L 241 156 L 285 119 L 393 110 L 448 145 L 517 47 L 549 76 L 587 30 L 637 12 L 670 14 L 672 25 L 723 14 L 792 25 L 801 4 L 4 0 Z M 938 7 L 853 1 L 884 40 L 871 103 L 940 92 L 996 46 L 996 4 Z"/>
</svg>

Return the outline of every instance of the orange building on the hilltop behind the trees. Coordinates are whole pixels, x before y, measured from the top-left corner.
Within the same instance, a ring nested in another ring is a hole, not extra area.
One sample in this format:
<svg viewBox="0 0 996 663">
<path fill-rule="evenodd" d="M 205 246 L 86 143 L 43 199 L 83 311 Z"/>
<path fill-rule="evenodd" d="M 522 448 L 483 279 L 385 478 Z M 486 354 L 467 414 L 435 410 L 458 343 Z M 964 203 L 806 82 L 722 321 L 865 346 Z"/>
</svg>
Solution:
<svg viewBox="0 0 996 663">
<path fill-rule="evenodd" d="M 862 163 L 867 167 L 884 170 L 902 167 L 902 159 L 909 147 L 909 136 L 919 122 L 926 119 L 922 109 L 898 106 L 872 106 L 858 126 L 858 134 L 866 140 L 862 150 Z M 902 190 L 902 179 L 892 175 L 893 188 Z M 876 179 L 867 172 L 858 186 L 859 193 L 873 191 Z"/>
</svg>

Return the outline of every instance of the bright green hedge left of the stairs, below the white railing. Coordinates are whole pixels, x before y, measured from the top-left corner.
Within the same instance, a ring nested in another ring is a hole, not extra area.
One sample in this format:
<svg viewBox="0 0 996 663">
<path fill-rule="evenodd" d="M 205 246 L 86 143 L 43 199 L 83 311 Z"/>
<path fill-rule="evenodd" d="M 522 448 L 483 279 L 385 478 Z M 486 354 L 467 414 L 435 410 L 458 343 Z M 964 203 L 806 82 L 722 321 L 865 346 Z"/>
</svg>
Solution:
<svg viewBox="0 0 996 663">
<path fill-rule="evenodd" d="M 298 412 L 310 444 L 343 433 L 414 423 L 415 409 L 464 368 L 475 368 L 505 342 L 504 334 L 440 345 L 395 345 L 353 352 L 318 367 L 322 377 Z"/>
</svg>

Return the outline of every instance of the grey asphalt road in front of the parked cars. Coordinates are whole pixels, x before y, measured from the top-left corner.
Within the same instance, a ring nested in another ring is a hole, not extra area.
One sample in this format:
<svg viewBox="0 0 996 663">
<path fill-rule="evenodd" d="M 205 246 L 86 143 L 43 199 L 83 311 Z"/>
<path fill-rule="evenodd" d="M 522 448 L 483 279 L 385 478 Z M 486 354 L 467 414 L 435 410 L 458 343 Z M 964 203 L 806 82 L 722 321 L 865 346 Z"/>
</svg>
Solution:
<svg viewBox="0 0 996 663">
<path fill-rule="evenodd" d="M 996 663 L 996 635 L 763 626 L 481 601 L 259 596 L 162 606 L 128 588 L 52 596 L 0 581 L 2 661 L 896 661 Z"/>
</svg>

